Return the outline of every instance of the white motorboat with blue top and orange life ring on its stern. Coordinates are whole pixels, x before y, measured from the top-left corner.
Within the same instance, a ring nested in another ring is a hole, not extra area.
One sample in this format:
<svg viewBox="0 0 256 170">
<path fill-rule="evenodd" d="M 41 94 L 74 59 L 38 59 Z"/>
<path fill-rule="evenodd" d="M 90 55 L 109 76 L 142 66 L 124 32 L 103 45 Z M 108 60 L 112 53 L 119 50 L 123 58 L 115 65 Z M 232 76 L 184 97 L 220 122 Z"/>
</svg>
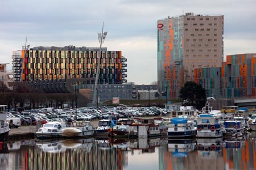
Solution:
<svg viewBox="0 0 256 170">
<path fill-rule="evenodd" d="M 200 114 L 197 118 L 197 138 L 220 138 L 226 130 L 217 118 L 210 114 Z"/>
</svg>

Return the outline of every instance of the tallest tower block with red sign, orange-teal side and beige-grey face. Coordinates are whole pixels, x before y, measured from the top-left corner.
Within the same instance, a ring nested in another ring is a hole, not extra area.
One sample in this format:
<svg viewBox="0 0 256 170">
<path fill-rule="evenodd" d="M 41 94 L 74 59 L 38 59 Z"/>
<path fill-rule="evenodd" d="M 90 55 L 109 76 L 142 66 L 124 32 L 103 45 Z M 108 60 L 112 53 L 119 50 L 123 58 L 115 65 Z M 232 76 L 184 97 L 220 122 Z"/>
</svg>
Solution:
<svg viewBox="0 0 256 170">
<path fill-rule="evenodd" d="M 185 15 L 159 19 L 158 86 L 169 99 L 194 80 L 194 70 L 221 67 L 223 61 L 223 15 Z"/>
</svg>

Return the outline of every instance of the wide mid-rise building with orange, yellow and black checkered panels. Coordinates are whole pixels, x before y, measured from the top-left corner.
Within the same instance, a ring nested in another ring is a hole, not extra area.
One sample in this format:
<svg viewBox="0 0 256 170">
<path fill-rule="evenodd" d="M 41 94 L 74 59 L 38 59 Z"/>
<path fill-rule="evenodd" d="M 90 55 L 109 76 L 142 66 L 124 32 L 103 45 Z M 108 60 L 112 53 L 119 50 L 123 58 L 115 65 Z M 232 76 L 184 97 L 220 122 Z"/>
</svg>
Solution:
<svg viewBox="0 0 256 170">
<path fill-rule="evenodd" d="M 100 48 L 38 46 L 15 51 L 12 57 L 14 80 L 32 82 L 31 86 L 46 92 L 68 92 L 68 82 L 94 84 L 98 57 L 101 57 L 98 84 L 127 82 L 127 60 L 121 51 L 102 48 L 100 54 Z"/>
</svg>

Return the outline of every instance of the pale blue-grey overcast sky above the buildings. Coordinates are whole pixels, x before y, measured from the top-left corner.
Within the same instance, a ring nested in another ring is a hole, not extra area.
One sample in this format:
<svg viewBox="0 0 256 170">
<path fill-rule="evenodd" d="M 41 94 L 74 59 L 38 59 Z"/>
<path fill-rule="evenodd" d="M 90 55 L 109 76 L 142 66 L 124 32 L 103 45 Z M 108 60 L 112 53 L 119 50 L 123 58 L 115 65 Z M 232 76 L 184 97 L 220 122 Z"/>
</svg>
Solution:
<svg viewBox="0 0 256 170">
<path fill-rule="evenodd" d="M 224 56 L 256 53 L 255 0 L 0 0 L 0 63 L 27 43 L 33 46 L 99 46 L 97 32 L 108 36 L 104 47 L 127 58 L 127 80 L 157 80 L 156 22 L 194 12 L 224 15 Z M 11 69 L 11 65 L 9 65 Z"/>
</svg>

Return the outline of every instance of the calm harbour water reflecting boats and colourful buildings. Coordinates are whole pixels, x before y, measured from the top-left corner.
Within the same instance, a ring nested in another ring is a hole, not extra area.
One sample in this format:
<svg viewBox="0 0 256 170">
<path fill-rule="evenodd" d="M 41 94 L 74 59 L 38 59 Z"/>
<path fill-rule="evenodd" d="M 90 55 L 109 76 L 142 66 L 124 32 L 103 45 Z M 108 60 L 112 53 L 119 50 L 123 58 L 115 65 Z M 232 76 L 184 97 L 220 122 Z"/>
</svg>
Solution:
<svg viewBox="0 0 256 170">
<path fill-rule="evenodd" d="M 254 138 L 22 140 L 0 144 L 0 169 L 256 169 Z"/>
</svg>

